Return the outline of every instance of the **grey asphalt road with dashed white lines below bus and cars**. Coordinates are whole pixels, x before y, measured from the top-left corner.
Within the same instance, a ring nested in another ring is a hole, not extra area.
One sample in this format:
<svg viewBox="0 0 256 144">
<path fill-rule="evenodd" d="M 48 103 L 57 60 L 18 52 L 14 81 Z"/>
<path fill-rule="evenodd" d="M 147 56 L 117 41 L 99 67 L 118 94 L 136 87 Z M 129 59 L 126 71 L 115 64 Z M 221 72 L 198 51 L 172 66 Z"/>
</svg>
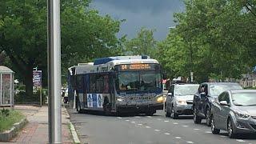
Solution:
<svg viewBox="0 0 256 144">
<path fill-rule="evenodd" d="M 227 137 L 225 131 L 221 134 L 211 134 L 210 127 L 196 125 L 192 117 L 182 117 L 174 120 L 166 118 L 162 110 L 154 116 L 104 116 L 90 112 L 78 114 L 69 110 L 70 120 L 78 130 L 82 143 L 90 144 L 165 144 L 165 143 L 212 143 L 236 144 L 256 143 L 256 135 L 241 135 L 237 139 Z"/>
</svg>

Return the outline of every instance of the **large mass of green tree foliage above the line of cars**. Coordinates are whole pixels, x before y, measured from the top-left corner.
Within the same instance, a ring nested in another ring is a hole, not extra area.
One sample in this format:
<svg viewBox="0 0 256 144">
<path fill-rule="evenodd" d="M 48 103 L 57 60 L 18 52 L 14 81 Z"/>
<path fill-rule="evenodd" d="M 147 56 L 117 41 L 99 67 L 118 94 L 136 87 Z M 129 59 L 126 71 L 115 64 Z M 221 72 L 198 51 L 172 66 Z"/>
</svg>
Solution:
<svg viewBox="0 0 256 144">
<path fill-rule="evenodd" d="M 255 66 L 256 1 L 185 3 L 186 11 L 174 14 L 178 25 L 159 44 L 170 75 L 188 76 L 192 70 L 202 82 L 211 76 L 239 78 Z"/>
</svg>

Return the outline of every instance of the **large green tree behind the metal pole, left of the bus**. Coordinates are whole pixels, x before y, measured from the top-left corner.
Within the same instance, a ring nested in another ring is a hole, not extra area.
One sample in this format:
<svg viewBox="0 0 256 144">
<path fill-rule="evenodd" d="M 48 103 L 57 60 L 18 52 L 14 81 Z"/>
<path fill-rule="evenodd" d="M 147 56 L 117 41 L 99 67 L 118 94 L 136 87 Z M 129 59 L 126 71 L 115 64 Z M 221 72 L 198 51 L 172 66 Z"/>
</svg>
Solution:
<svg viewBox="0 0 256 144">
<path fill-rule="evenodd" d="M 46 1 L 0 3 L 0 51 L 10 58 L 11 68 L 26 84 L 26 94 L 31 95 L 35 66 L 43 71 L 46 86 Z M 61 2 L 62 74 L 78 62 L 111 55 L 118 47 L 115 34 L 120 22 L 108 15 L 100 16 L 89 4 L 90 0 Z"/>
</svg>

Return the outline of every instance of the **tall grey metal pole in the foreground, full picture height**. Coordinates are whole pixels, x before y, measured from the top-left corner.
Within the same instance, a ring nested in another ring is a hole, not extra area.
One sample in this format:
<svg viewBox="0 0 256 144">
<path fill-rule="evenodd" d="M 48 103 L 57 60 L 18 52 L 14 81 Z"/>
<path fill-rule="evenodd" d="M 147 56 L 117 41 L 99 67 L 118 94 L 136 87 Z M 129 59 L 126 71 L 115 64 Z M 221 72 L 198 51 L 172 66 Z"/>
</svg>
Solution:
<svg viewBox="0 0 256 144">
<path fill-rule="evenodd" d="M 49 142 L 62 143 L 60 0 L 48 0 Z"/>
</svg>

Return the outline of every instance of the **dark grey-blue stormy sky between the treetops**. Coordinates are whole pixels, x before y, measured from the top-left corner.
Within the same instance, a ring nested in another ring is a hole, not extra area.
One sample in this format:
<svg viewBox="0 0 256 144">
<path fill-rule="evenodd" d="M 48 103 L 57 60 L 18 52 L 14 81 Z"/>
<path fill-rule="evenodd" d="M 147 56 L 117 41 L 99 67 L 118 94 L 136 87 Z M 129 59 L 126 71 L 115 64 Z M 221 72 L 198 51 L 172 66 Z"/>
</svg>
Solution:
<svg viewBox="0 0 256 144">
<path fill-rule="evenodd" d="M 134 38 L 142 26 L 156 30 L 154 38 L 166 38 L 168 27 L 175 26 L 173 14 L 185 9 L 182 0 L 93 0 L 92 7 L 100 14 L 110 14 L 122 22 L 118 34 Z"/>
</svg>

